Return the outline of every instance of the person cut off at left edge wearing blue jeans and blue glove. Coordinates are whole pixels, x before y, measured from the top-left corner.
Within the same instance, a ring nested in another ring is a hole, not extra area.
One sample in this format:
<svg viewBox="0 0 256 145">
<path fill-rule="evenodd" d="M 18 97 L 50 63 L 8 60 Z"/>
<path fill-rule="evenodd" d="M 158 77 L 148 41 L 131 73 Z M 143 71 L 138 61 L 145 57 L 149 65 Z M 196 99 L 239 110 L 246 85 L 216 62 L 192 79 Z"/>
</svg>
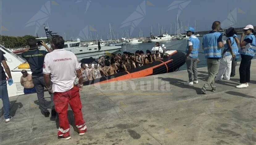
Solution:
<svg viewBox="0 0 256 145">
<path fill-rule="evenodd" d="M 11 72 L 10 72 L 10 68 L 8 67 L 8 65 L 6 64 L 5 58 L 4 58 L 4 52 L 2 52 L 0 50 L 0 55 L 1 55 L 1 63 L 8 75 L 8 84 L 12 85 L 13 81 L 12 81 L 12 77 L 11 77 Z M 8 91 L 7 91 L 7 83 L 6 83 L 6 75 L 4 72 L 3 67 L 0 67 L 0 72 L 1 72 L 1 85 L 0 85 L 0 98 L 2 98 L 2 102 L 3 102 L 3 110 L 4 110 L 4 118 L 6 122 L 9 122 L 12 119 L 12 116 L 10 115 L 10 100 L 9 100 L 9 96 L 8 96 Z"/>
</svg>

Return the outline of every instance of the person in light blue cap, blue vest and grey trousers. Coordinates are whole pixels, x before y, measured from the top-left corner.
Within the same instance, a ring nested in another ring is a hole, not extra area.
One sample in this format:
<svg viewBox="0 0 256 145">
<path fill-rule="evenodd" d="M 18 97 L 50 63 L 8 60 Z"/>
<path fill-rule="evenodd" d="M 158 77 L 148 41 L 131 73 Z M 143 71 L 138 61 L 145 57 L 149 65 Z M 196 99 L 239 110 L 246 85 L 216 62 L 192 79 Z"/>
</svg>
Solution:
<svg viewBox="0 0 256 145">
<path fill-rule="evenodd" d="M 189 27 L 185 31 L 187 32 L 187 36 L 190 38 L 187 40 L 186 49 L 186 64 L 189 81 L 184 83 L 184 85 L 193 85 L 194 83 L 198 84 L 196 64 L 200 41 L 197 37 L 195 37 L 195 29 L 193 27 Z"/>
</svg>

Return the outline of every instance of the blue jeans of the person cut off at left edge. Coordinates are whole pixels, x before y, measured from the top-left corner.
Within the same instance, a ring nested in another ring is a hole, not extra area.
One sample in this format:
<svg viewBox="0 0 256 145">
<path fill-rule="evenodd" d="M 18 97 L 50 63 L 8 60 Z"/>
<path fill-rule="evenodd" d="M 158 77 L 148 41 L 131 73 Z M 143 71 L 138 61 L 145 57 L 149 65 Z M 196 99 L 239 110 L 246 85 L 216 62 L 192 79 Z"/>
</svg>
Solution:
<svg viewBox="0 0 256 145">
<path fill-rule="evenodd" d="M 3 101 L 3 110 L 4 110 L 4 118 L 10 118 L 10 100 L 7 91 L 7 83 L 6 80 L 0 81 L 0 97 Z"/>
</svg>

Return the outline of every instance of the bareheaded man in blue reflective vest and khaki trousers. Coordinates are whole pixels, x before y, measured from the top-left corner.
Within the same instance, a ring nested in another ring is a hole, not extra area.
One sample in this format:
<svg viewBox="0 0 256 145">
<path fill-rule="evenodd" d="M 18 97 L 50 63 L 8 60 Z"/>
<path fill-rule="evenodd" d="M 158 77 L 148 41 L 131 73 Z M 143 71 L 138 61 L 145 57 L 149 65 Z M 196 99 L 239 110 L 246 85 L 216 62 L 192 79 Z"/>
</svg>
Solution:
<svg viewBox="0 0 256 145">
<path fill-rule="evenodd" d="M 214 78 L 219 70 L 221 48 L 224 46 L 222 43 L 222 33 L 218 32 L 220 29 L 220 21 L 215 21 L 212 23 L 212 31 L 203 37 L 203 49 L 208 68 L 208 79 L 201 89 L 203 94 L 206 94 L 206 88 L 209 85 L 212 87 L 212 92 L 216 91 Z"/>
</svg>

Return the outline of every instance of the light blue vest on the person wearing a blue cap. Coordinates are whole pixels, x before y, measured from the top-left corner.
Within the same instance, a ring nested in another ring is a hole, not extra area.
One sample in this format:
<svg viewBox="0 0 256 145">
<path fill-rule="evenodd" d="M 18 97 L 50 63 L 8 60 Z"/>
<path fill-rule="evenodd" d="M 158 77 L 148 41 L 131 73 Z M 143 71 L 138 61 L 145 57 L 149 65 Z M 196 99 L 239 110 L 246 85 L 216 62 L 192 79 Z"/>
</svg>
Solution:
<svg viewBox="0 0 256 145">
<path fill-rule="evenodd" d="M 200 41 L 199 41 L 199 39 L 197 37 L 195 37 L 195 35 L 190 36 L 190 38 L 187 40 L 186 54 L 187 54 L 188 49 L 189 49 L 189 46 L 188 46 L 188 42 L 189 41 L 193 44 L 193 49 L 190 52 L 189 57 L 197 58 L 198 57 Z"/>
</svg>

